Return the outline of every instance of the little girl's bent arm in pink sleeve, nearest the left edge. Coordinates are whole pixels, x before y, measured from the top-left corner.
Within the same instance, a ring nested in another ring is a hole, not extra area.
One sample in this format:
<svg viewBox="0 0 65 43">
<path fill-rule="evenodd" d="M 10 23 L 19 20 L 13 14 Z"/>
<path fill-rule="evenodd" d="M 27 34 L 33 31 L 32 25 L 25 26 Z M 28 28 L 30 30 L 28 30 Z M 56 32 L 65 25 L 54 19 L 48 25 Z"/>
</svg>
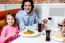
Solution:
<svg viewBox="0 0 65 43">
<path fill-rule="evenodd" d="M 16 33 L 11 33 L 9 35 L 7 35 L 7 28 L 4 27 L 3 31 L 1 33 L 1 40 L 2 42 L 5 42 L 6 40 L 8 40 L 9 38 L 11 38 L 12 36 L 14 36 Z"/>
</svg>

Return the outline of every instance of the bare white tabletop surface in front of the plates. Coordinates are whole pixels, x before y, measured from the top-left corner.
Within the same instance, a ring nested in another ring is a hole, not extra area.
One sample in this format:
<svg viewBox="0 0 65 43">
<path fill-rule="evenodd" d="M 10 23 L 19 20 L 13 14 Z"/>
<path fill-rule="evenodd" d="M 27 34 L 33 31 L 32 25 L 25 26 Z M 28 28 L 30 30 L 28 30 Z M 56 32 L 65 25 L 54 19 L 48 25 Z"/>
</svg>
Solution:
<svg viewBox="0 0 65 43">
<path fill-rule="evenodd" d="M 57 42 L 51 38 L 51 41 L 45 40 L 45 35 L 39 35 L 36 37 L 18 37 L 11 43 L 63 43 L 63 42 Z"/>
</svg>

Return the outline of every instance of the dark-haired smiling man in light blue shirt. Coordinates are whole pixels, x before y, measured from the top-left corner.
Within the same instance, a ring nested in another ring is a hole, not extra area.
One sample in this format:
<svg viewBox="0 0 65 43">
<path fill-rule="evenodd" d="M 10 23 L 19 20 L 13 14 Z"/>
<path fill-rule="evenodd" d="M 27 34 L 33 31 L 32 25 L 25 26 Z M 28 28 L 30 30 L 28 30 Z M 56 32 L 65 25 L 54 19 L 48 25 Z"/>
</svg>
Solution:
<svg viewBox="0 0 65 43">
<path fill-rule="evenodd" d="M 37 30 L 37 24 L 42 23 L 40 18 L 36 15 L 35 12 L 33 12 L 33 1 L 32 0 L 23 0 L 22 2 L 22 10 L 20 10 L 16 14 L 16 18 L 19 23 L 20 30 L 24 30 L 26 28 L 28 29 L 34 29 Z"/>
</svg>

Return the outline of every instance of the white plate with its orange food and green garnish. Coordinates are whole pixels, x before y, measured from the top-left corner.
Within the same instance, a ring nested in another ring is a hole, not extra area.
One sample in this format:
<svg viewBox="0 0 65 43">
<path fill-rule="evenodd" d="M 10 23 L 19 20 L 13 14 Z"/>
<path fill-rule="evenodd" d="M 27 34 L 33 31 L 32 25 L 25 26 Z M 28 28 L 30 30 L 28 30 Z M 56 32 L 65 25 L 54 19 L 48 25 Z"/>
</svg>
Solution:
<svg viewBox="0 0 65 43">
<path fill-rule="evenodd" d="M 32 37 L 32 36 L 39 35 L 39 32 L 37 32 L 35 30 L 24 30 L 24 31 L 21 31 L 19 34 L 21 36 L 25 36 L 25 37 Z"/>
</svg>

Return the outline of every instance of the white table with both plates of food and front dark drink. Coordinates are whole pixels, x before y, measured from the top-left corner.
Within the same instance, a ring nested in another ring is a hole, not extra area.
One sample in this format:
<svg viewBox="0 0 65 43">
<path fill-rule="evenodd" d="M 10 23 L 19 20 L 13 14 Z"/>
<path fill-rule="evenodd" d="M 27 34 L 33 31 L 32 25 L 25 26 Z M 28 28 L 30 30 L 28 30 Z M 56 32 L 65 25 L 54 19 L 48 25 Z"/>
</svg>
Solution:
<svg viewBox="0 0 65 43">
<path fill-rule="evenodd" d="M 60 31 L 50 29 L 43 30 L 42 32 L 27 29 L 20 31 L 19 35 L 20 37 L 11 43 L 63 43 L 65 34 L 63 35 Z"/>
</svg>

